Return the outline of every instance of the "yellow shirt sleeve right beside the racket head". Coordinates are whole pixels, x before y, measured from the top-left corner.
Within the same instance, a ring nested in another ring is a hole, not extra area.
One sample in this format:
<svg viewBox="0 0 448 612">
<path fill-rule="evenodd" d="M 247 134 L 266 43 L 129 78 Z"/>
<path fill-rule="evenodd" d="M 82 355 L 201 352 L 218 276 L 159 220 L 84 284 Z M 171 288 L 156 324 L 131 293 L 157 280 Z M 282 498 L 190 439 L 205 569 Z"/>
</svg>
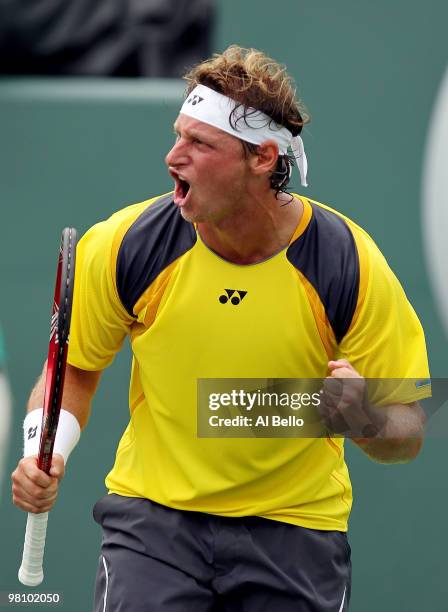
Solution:
<svg viewBox="0 0 448 612">
<path fill-rule="evenodd" d="M 83 370 L 111 364 L 133 323 L 115 284 L 115 226 L 93 226 L 76 250 L 75 286 L 68 363 Z"/>
</svg>

